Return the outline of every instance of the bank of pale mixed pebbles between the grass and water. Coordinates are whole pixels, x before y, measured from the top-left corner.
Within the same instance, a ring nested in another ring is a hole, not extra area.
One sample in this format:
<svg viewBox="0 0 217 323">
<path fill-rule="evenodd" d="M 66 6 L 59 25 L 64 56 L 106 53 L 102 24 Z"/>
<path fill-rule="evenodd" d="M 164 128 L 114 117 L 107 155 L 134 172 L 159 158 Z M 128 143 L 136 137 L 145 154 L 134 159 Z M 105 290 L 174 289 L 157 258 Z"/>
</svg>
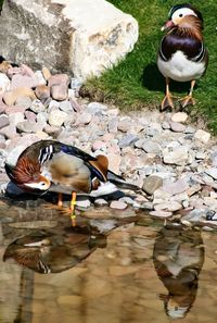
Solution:
<svg viewBox="0 0 217 323">
<path fill-rule="evenodd" d="M 132 206 L 161 218 L 176 213 L 186 224 L 217 218 L 217 142 L 207 131 L 190 124 L 184 112 L 123 113 L 89 102 L 79 97 L 80 85 L 46 67 L 34 72 L 25 64 L 0 64 L 2 185 L 8 182 L 5 161 L 15 164 L 27 146 L 56 139 L 93 156 L 105 154 L 112 171 L 144 190 L 111 202 L 111 208 Z M 95 204 L 107 201 L 98 199 Z"/>
</svg>

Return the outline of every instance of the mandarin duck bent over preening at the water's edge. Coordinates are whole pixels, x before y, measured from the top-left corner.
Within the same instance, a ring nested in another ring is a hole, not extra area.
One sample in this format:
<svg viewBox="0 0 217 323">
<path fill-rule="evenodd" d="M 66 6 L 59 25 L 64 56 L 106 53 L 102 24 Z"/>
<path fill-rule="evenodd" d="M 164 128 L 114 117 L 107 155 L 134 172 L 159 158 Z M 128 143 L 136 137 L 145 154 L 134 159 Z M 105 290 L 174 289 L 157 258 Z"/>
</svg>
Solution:
<svg viewBox="0 0 217 323">
<path fill-rule="evenodd" d="M 105 156 L 94 158 L 74 146 L 54 140 L 41 140 L 27 147 L 16 165 L 5 164 L 5 171 L 9 178 L 27 192 L 59 192 L 59 207 L 62 207 L 62 194 L 72 195 L 72 216 L 76 194 L 98 197 L 112 194 L 117 187 L 140 190 L 110 171 Z"/>
</svg>

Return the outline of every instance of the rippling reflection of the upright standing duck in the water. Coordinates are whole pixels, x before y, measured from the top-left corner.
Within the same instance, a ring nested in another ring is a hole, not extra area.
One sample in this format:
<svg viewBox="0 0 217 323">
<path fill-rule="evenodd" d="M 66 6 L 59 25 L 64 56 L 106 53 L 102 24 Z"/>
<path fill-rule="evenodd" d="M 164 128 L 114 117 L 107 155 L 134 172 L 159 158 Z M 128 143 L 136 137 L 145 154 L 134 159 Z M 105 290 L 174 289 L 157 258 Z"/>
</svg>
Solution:
<svg viewBox="0 0 217 323">
<path fill-rule="evenodd" d="M 201 233 L 164 227 L 156 238 L 153 259 L 157 275 L 168 290 L 168 295 L 161 295 L 167 315 L 183 318 L 195 300 L 204 262 Z"/>
</svg>

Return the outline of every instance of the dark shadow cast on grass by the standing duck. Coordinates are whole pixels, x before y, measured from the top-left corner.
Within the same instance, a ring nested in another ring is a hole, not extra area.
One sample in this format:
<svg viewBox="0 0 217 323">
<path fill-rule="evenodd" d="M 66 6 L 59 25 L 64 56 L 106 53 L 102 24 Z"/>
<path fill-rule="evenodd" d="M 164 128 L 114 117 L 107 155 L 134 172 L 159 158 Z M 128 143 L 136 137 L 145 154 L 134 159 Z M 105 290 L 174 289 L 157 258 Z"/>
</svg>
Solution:
<svg viewBox="0 0 217 323">
<path fill-rule="evenodd" d="M 144 67 L 141 82 L 142 86 L 150 91 L 165 92 L 165 78 L 159 73 L 156 63 L 152 62 Z M 171 80 L 169 88 L 171 92 L 186 94 L 190 89 L 190 82 Z"/>
</svg>

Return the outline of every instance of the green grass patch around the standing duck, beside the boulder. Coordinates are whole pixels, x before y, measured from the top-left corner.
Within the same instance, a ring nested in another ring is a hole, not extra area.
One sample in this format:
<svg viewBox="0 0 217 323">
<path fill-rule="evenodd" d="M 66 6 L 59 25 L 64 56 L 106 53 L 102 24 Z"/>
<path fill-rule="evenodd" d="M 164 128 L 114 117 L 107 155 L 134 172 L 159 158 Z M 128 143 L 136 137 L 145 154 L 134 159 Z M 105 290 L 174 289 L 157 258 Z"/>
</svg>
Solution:
<svg viewBox="0 0 217 323">
<path fill-rule="evenodd" d="M 137 18 L 140 28 L 139 40 L 133 51 L 117 66 L 106 71 L 100 78 L 88 80 L 85 92 L 95 95 L 100 91 L 104 101 L 112 101 L 127 110 L 159 107 L 165 88 L 164 78 L 156 66 L 156 52 L 163 36 L 161 27 L 167 18 L 170 7 L 184 1 L 110 0 L 110 2 Z M 196 104 L 188 110 L 195 116 L 203 114 L 209 128 L 217 134 L 217 2 L 206 0 L 191 3 L 204 17 L 204 37 L 209 51 L 209 65 L 206 75 L 195 87 Z M 181 97 L 188 89 L 189 84 L 171 85 L 175 95 Z"/>
</svg>

